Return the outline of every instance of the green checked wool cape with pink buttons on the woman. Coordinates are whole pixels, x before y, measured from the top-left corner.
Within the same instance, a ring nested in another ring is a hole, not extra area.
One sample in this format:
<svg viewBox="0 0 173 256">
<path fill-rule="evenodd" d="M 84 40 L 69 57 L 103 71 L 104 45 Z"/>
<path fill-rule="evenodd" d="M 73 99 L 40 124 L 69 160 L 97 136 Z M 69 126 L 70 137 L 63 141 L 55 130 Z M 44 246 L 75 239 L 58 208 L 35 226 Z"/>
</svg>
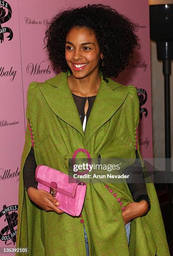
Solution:
<svg viewBox="0 0 173 256">
<path fill-rule="evenodd" d="M 68 174 L 68 159 L 77 148 L 85 148 L 92 158 L 118 158 L 135 161 L 135 128 L 139 121 L 136 87 L 103 80 L 88 122 L 83 131 L 78 109 L 68 85 L 69 73 L 38 83 L 32 82 L 27 93 L 26 117 L 34 133 L 37 164 Z M 28 247 L 30 256 L 85 256 L 83 225 L 88 235 L 90 256 L 169 256 L 162 215 L 154 185 L 147 183 L 151 209 L 147 215 L 131 221 L 128 247 L 122 209 L 133 202 L 126 181 L 87 184 L 81 217 L 46 212 L 28 197 L 23 182 L 23 166 L 32 146 L 27 127 L 20 182 L 16 247 Z M 139 148 L 139 145 L 138 145 Z M 140 161 L 143 163 L 138 149 Z M 86 158 L 85 153 L 78 153 Z M 113 196 L 117 194 L 117 197 Z M 83 219 L 84 223 L 80 220 Z M 16 253 L 16 256 L 20 256 Z"/>
</svg>

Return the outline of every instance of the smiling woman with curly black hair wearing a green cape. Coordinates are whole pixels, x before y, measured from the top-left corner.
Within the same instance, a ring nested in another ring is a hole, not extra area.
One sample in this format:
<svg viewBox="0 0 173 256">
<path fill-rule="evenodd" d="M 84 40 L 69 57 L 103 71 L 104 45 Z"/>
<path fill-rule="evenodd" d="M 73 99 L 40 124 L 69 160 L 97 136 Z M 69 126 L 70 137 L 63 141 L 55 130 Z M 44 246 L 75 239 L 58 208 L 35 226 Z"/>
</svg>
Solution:
<svg viewBox="0 0 173 256">
<path fill-rule="evenodd" d="M 28 247 L 29 255 L 169 255 L 153 184 L 90 182 L 74 218 L 33 178 L 38 164 L 68 174 L 77 148 L 92 158 L 130 159 L 128 166 L 141 158 L 136 88 L 109 78 L 139 46 L 134 30 L 130 20 L 99 4 L 56 15 L 46 32 L 50 60 L 63 72 L 31 83 L 27 94 L 17 246 Z"/>
</svg>

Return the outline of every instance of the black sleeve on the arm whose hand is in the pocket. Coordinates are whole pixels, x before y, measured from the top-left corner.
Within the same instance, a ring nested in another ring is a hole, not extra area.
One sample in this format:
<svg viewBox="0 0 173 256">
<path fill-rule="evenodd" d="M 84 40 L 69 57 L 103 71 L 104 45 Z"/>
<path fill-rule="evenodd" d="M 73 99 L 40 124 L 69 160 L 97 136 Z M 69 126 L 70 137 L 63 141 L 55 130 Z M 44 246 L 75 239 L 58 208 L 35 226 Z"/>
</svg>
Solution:
<svg viewBox="0 0 173 256">
<path fill-rule="evenodd" d="M 130 174 L 131 181 L 134 180 L 135 183 L 128 183 L 129 180 L 126 179 L 128 188 L 133 196 L 133 200 L 138 202 L 140 200 L 148 201 L 148 193 L 147 187 L 145 183 L 145 179 L 143 177 L 143 168 L 140 163 L 140 159 L 138 158 L 138 154 L 136 154 L 135 163 L 126 168 L 124 171 L 125 174 Z"/>
</svg>

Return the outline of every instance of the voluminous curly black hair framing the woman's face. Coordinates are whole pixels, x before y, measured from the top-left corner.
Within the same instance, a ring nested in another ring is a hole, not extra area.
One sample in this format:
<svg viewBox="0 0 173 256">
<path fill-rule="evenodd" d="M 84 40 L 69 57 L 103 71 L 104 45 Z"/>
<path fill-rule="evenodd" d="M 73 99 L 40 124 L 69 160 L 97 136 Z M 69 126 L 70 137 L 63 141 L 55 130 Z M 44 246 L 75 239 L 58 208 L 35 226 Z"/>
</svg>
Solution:
<svg viewBox="0 0 173 256">
<path fill-rule="evenodd" d="M 133 59 L 133 49 L 140 48 L 135 24 L 110 6 L 88 4 L 61 11 L 51 20 L 44 43 L 54 67 L 63 72 L 69 70 L 72 73 L 65 60 L 65 38 L 73 27 L 86 27 L 95 33 L 100 53 L 104 56 L 104 67 L 101 61 L 99 64 L 104 78 L 117 77 Z"/>
</svg>

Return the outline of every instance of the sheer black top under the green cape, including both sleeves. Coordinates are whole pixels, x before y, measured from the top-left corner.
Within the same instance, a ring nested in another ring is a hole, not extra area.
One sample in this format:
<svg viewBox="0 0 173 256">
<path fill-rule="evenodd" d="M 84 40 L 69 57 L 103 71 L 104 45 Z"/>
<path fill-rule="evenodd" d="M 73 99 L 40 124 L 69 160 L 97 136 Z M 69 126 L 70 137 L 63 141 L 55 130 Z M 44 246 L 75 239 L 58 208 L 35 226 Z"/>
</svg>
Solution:
<svg viewBox="0 0 173 256">
<path fill-rule="evenodd" d="M 73 99 L 75 101 L 75 104 L 78 108 L 78 112 L 80 115 L 80 120 L 83 124 L 84 118 L 85 118 L 85 103 L 88 99 L 88 110 L 86 113 L 86 124 L 88 121 L 88 117 L 90 115 L 91 108 L 93 106 L 94 100 L 96 95 L 91 97 L 80 97 L 78 95 L 73 94 Z M 138 158 L 138 152 L 136 151 L 136 157 Z M 136 159 L 136 162 L 138 159 Z M 139 161 L 140 163 L 140 161 Z M 140 170 L 140 174 L 138 174 L 138 183 L 128 183 L 128 187 L 130 189 L 130 192 L 133 196 L 133 200 L 137 202 L 140 200 L 148 200 L 148 193 L 146 189 L 145 180 L 143 179 L 143 172 L 141 171 L 142 167 L 141 164 L 138 163 L 138 167 L 135 167 L 135 171 Z M 136 166 L 136 164 L 135 164 Z M 27 156 L 27 159 L 25 161 L 24 167 L 23 167 L 23 180 L 26 189 L 28 190 L 29 187 L 34 187 L 37 189 L 38 182 L 35 180 L 35 169 L 37 167 L 36 161 L 35 161 L 35 155 L 34 155 L 34 149 L 30 149 L 30 153 Z M 132 168 L 133 166 L 130 166 Z M 130 169 L 125 169 L 124 173 L 129 173 Z M 135 176 L 136 178 L 136 176 Z"/>
</svg>

